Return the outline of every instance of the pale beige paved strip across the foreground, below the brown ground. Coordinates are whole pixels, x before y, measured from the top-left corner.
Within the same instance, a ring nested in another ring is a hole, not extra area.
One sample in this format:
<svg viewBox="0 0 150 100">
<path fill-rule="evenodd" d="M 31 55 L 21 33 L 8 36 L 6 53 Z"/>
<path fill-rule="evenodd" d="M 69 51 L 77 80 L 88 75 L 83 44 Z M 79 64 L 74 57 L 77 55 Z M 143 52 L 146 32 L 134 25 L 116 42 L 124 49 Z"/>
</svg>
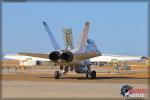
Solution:
<svg viewBox="0 0 150 100">
<path fill-rule="evenodd" d="M 122 98 L 120 83 L 73 83 L 3 81 L 2 97 L 21 98 Z M 147 88 L 146 84 L 130 84 L 134 88 Z"/>
</svg>

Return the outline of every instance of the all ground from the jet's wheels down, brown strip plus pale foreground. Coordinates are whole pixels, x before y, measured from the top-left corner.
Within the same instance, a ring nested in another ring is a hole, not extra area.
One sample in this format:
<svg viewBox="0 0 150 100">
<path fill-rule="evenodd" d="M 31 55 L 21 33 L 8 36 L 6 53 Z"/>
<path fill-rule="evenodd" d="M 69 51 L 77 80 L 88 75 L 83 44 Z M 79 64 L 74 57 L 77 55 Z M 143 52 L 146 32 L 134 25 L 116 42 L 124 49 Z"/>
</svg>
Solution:
<svg viewBox="0 0 150 100">
<path fill-rule="evenodd" d="M 10 77 L 11 76 L 11 77 Z M 148 89 L 148 79 L 104 77 L 86 79 L 84 75 L 66 75 L 59 80 L 44 74 L 4 74 L 2 98 L 120 98 L 123 85 Z M 147 94 L 145 95 L 147 98 Z"/>
</svg>

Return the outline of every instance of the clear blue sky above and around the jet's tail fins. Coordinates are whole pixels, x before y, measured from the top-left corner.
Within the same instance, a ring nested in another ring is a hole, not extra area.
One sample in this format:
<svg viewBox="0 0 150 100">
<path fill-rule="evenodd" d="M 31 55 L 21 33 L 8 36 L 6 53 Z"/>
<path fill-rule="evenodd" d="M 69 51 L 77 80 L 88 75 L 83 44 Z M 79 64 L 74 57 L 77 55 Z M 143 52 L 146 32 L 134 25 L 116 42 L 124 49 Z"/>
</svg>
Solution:
<svg viewBox="0 0 150 100">
<path fill-rule="evenodd" d="M 146 2 L 3 3 L 2 50 L 4 54 L 52 51 L 42 21 L 48 23 L 62 49 L 62 29 L 72 28 L 76 45 L 89 21 L 89 38 L 102 53 L 147 56 L 147 9 Z"/>
</svg>

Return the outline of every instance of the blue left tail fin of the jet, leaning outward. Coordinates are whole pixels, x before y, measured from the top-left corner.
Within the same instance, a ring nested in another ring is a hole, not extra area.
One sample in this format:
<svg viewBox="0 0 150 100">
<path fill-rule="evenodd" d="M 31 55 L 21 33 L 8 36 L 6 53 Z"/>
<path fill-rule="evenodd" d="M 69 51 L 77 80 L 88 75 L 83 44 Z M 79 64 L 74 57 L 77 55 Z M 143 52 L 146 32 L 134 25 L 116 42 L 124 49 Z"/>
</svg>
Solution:
<svg viewBox="0 0 150 100">
<path fill-rule="evenodd" d="M 47 23 L 46 23 L 46 22 L 43 22 L 43 25 L 44 25 L 44 27 L 45 27 L 45 30 L 46 30 L 47 33 L 48 33 L 48 36 L 49 36 L 49 38 L 50 38 L 50 41 L 51 41 L 51 44 L 53 45 L 54 50 L 60 49 L 60 48 L 59 48 L 59 45 L 58 45 L 58 43 L 57 43 L 57 41 L 55 40 L 55 38 L 54 38 L 54 36 L 53 36 L 51 30 L 50 30 L 49 27 L 48 27 Z"/>
</svg>

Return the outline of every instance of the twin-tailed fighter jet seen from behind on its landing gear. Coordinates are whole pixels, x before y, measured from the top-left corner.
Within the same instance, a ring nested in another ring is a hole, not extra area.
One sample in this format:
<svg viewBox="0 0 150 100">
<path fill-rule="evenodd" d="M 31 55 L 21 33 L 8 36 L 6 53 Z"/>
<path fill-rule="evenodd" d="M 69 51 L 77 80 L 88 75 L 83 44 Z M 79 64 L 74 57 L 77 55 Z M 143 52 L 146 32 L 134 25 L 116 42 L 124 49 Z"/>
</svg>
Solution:
<svg viewBox="0 0 150 100">
<path fill-rule="evenodd" d="M 46 58 L 52 61 L 55 65 L 59 65 L 60 69 L 54 73 L 54 78 L 59 79 L 60 76 L 65 75 L 69 70 L 75 71 L 79 74 L 86 74 L 86 78 L 89 76 L 92 79 L 96 78 L 96 71 L 91 71 L 91 64 L 89 59 L 101 56 L 101 52 L 97 49 L 97 46 L 92 39 L 88 39 L 89 22 L 85 23 L 84 29 L 81 33 L 78 44 L 73 49 L 60 49 L 57 41 L 55 40 L 52 32 L 47 26 L 46 22 L 43 22 L 46 31 L 49 33 L 51 43 L 54 50 L 47 54 L 42 53 L 19 53 L 20 55 L 33 56 Z"/>
</svg>

